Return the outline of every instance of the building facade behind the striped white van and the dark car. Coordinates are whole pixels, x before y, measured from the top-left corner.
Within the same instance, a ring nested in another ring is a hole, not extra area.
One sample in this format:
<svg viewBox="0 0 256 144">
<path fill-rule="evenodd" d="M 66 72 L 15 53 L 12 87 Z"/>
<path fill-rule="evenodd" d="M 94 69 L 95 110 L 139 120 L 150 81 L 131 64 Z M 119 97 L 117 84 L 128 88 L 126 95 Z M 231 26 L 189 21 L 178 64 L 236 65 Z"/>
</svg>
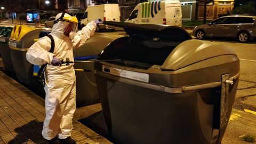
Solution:
<svg viewBox="0 0 256 144">
<path fill-rule="evenodd" d="M 151 1 L 151 0 L 148 0 Z M 153 0 L 154 1 L 154 0 Z M 157 0 L 156 0 L 157 1 Z M 234 9 L 235 0 L 207 0 L 206 19 L 216 19 L 221 15 L 230 14 Z M 134 7 L 147 0 L 122 0 L 119 1 L 121 20 L 129 17 Z M 205 0 L 180 0 L 183 20 L 202 20 L 204 15 Z"/>
</svg>

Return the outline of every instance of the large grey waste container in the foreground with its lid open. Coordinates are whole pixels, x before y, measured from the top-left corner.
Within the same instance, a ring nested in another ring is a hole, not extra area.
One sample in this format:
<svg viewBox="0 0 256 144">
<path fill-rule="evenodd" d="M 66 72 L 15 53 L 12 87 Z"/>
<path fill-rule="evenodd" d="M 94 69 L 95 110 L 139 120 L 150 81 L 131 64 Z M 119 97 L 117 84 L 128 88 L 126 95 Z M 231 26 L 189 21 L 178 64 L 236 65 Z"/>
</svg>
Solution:
<svg viewBox="0 0 256 144">
<path fill-rule="evenodd" d="M 116 61 L 94 65 L 113 137 L 132 144 L 221 143 L 238 84 L 235 52 L 190 39 L 179 27 L 119 25 L 130 36 L 98 57 Z"/>
</svg>

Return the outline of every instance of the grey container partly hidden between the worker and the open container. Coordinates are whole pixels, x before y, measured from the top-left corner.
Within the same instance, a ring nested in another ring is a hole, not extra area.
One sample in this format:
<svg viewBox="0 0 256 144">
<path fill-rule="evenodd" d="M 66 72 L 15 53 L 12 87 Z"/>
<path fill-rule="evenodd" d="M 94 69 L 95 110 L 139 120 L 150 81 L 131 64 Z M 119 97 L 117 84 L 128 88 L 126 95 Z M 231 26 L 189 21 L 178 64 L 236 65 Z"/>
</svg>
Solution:
<svg viewBox="0 0 256 144">
<path fill-rule="evenodd" d="M 76 73 L 76 104 L 77 107 L 91 105 L 99 102 L 97 84 L 94 77 L 93 55 L 98 55 L 114 39 L 122 36 L 107 36 L 95 33 L 85 45 L 74 50 L 74 59 L 77 61 L 74 65 Z M 92 62 L 79 62 L 79 61 Z"/>
</svg>

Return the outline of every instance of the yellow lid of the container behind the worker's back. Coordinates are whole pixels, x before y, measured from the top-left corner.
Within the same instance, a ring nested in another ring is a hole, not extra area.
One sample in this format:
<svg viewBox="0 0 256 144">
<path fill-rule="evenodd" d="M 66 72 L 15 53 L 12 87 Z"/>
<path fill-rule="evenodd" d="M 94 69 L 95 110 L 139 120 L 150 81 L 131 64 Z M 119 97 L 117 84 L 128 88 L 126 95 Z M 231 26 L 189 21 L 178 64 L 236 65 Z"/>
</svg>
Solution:
<svg viewBox="0 0 256 144">
<path fill-rule="evenodd" d="M 38 28 L 28 27 L 25 25 L 15 25 L 12 30 L 10 39 L 13 41 L 20 41 L 23 36 L 25 36 L 27 33 L 35 29 L 38 29 Z"/>
</svg>

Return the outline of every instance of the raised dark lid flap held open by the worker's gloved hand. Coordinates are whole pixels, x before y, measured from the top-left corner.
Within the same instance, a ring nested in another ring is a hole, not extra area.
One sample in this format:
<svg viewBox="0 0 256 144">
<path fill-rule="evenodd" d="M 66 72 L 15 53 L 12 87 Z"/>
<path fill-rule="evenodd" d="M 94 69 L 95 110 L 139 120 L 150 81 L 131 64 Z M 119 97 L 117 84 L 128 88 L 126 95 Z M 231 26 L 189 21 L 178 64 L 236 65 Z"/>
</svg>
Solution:
<svg viewBox="0 0 256 144">
<path fill-rule="evenodd" d="M 186 30 L 177 26 L 154 25 L 154 24 L 134 24 L 129 22 L 105 21 L 106 25 L 124 28 L 127 35 L 136 39 L 159 38 L 161 41 L 183 42 L 191 39 Z"/>
</svg>

